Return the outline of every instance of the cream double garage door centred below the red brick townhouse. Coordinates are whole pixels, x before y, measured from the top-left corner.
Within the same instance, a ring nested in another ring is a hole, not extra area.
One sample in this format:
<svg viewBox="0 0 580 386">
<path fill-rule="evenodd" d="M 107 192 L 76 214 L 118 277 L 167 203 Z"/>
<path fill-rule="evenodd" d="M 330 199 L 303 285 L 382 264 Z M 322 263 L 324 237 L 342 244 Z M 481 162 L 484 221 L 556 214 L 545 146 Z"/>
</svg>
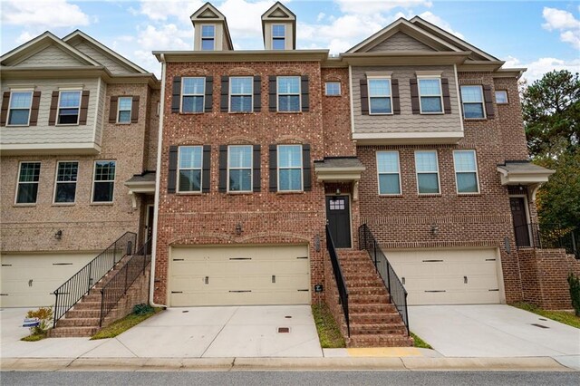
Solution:
<svg viewBox="0 0 580 386">
<path fill-rule="evenodd" d="M 169 304 L 310 304 L 307 246 L 171 248 Z"/>
</svg>

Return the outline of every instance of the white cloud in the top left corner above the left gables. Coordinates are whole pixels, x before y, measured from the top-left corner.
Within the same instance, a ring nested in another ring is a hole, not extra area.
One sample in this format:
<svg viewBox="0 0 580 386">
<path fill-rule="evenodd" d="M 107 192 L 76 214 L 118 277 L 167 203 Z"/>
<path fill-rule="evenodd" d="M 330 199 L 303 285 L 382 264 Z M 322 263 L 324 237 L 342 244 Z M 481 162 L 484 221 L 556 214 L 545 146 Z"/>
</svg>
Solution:
<svg viewBox="0 0 580 386">
<path fill-rule="evenodd" d="M 37 29 L 73 27 L 91 23 L 78 5 L 66 0 L 2 1 L 2 23 Z"/>
</svg>

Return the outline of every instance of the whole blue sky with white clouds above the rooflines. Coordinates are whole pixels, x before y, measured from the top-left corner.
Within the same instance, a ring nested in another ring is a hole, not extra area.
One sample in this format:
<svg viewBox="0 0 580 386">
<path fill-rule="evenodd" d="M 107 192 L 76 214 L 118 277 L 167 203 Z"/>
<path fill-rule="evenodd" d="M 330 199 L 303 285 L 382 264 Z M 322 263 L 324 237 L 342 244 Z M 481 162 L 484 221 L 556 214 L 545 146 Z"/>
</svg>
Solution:
<svg viewBox="0 0 580 386">
<path fill-rule="evenodd" d="M 1 52 L 44 31 L 75 29 L 159 74 L 152 50 L 191 50 L 189 15 L 205 1 L 0 0 Z M 260 15 L 270 0 L 212 1 L 226 15 L 236 49 L 262 49 Z M 553 69 L 580 72 L 580 2 L 438 0 L 291 0 L 298 48 L 346 51 L 399 17 L 418 14 L 507 61 L 527 67 L 528 81 Z"/>
</svg>

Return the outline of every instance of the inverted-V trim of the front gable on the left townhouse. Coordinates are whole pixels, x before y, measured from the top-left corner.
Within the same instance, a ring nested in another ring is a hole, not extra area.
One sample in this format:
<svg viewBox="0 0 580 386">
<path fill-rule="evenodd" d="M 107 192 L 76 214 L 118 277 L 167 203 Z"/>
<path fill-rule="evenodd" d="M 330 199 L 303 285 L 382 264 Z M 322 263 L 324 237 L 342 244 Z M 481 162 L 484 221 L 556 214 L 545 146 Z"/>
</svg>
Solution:
<svg viewBox="0 0 580 386">
<path fill-rule="evenodd" d="M 21 63 L 27 58 L 30 58 L 35 53 L 43 51 L 43 49 L 52 44 L 63 50 L 63 52 L 71 55 L 74 59 L 79 61 L 79 63 L 85 64 L 87 66 L 102 67 L 101 63 L 98 63 L 91 57 L 75 49 L 70 44 L 64 43 L 61 39 L 48 31 L 46 31 L 44 34 L 36 36 L 33 40 L 14 48 L 14 50 L 5 53 L 2 55 L 2 57 L 0 57 L 0 63 L 2 63 L 3 66 L 16 65 L 17 63 Z"/>
</svg>

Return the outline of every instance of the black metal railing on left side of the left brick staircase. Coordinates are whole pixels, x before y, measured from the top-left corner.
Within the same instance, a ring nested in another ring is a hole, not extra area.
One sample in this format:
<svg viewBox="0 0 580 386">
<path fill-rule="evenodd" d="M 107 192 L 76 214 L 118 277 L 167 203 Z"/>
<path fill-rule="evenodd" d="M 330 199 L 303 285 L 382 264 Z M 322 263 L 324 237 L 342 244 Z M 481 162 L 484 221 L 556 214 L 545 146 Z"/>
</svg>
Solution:
<svg viewBox="0 0 580 386">
<path fill-rule="evenodd" d="M 92 286 L 95 285 L 102 276 L 106 275 L 123 256 L 132 255 L 135 247 L 137 235 L 127 232 L 119 237 L 111 246 L 108 246 L 99 256 L 96 256 L 87 265 L 84 265 L 79 272 L 73 275 L 63 285 L 54 290 L 56 297 L 54 302 L 54 321 L 61 319 L 64 314 L 81 300 L 82 296 L 88 294 Z"/>
</svg>

